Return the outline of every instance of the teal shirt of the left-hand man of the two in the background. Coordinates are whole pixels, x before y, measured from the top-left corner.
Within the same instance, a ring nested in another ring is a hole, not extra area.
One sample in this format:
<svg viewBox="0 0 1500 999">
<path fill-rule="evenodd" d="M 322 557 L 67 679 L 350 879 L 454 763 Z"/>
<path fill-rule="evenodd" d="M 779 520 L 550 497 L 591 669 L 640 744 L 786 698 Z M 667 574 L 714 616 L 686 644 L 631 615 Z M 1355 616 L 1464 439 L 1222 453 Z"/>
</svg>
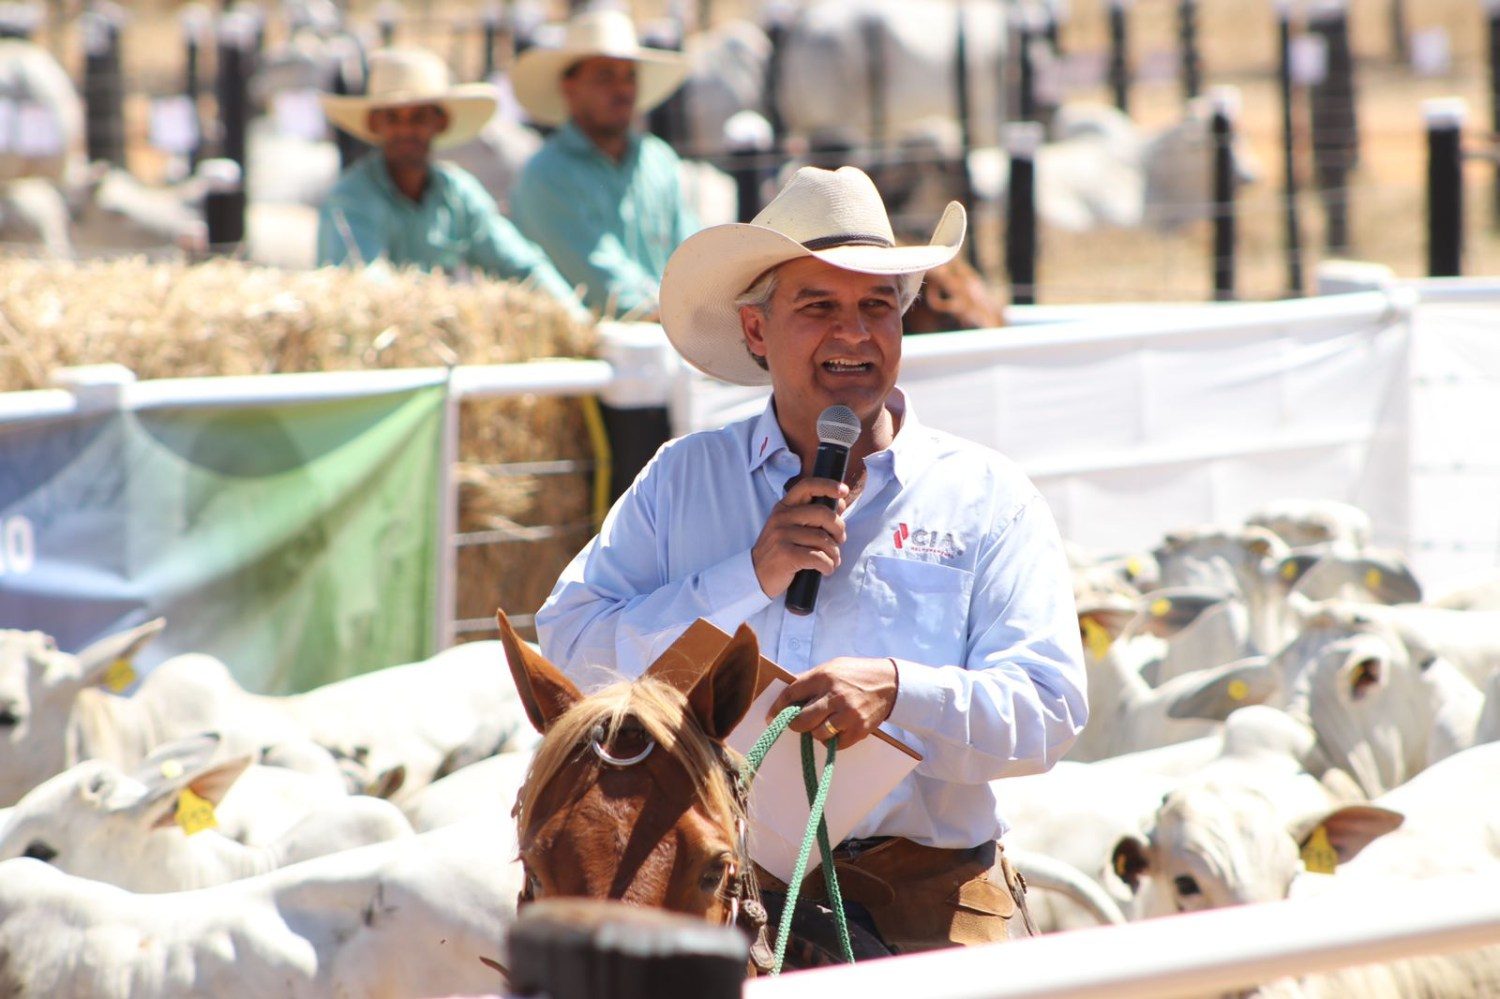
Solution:
<svg viewBox="0 0 1500 999">
<path fill-rule="evenodd" d="M 344 171 L 318 213 L 318 266 L 351 260 L 530 278 L 582 312 L 572 285 L 548 255 L 500 213 L 474 174 L 453 164 L 430 164 L 422 201 L 400 194 L 380 150 Z"/>
</svg>

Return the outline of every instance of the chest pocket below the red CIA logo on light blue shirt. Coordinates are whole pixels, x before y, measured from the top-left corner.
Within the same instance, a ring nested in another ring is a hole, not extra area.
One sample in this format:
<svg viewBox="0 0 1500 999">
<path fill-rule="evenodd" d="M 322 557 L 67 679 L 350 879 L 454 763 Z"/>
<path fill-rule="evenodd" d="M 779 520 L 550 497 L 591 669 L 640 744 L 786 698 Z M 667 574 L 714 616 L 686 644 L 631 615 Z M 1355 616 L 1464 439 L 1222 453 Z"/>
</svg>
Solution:
<svg viewBox="0 0 1500 999">
<path fill-rule="evenodd" d="M 860 584 L 855 648 L 927 666 L 963 664 L 974 573 L 870 555 Z"/>
</svg>

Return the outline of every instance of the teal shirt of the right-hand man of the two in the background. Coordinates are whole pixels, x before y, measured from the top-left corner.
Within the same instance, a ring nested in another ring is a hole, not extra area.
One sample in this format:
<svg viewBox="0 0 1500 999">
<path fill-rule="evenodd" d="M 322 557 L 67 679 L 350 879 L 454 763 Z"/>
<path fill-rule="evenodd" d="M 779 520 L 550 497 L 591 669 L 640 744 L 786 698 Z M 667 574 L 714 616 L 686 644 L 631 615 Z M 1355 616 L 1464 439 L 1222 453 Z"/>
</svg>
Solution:
<svg viewBox="0 0 1500 999">
<path fill-rule="evenodd" d="M 668 258 L 698 231 L 670 146 L 632 134 L 615 162 L 572 122 L 520 172 L 510 214 L 564 278 L 584 285 L 590 309 L 614 302 L 616 315 L 656 309 Z"/>
</svg>

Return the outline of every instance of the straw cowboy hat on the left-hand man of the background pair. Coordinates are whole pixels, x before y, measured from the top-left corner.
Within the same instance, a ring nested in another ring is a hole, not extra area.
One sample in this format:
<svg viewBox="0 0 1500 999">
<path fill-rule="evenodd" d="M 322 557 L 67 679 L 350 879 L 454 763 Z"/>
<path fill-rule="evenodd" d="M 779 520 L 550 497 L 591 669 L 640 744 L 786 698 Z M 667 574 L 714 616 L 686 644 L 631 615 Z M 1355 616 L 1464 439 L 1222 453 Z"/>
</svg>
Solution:
<svg viewBox="0 0 1500 999">
<path fill-rule="evenodd" d="M 320 94 L 322 112 L 354 138 L 380 146 L 370 132 L 375 108 L 412 108 L 435 104 L 448 112 L 448 128 L 432 141 L 436 148 L 462 146 L 484 128 L 500 104 L 490 84 L 454 87 L 448 68 L 423 48 L 382 48 L 370 52 L 369 87 L 363 96 Z"/>
</svg>

